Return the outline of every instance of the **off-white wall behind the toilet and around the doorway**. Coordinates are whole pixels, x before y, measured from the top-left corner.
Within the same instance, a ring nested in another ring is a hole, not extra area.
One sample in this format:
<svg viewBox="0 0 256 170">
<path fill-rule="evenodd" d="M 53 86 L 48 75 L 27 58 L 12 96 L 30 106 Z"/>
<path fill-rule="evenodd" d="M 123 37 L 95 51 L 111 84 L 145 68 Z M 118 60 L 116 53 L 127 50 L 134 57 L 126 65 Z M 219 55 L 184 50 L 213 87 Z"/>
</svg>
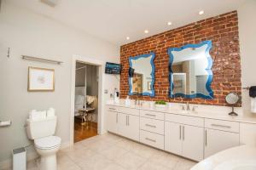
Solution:
<svg viewBox="0 0 256 170">
<path fill-rule="evenodd" d="M 7 48 L 10 48 L 10 58 L 6 57 Z M 21 54 L 64 63 L 51 65 L 27 61 L 20 59 Z M 0 162 L 11 158 L 12 149 L 31 143 L 23 126 L 32 109 L 54 107 L 58 116 L 56 135 L 63 143 L 69 142 L 73 54 L 119 62 L 118 46 L 3 2 L 0 13 L 0 120 L 11 120 L 13 124 L 0 128 Z M 28 66 L 55 69 L 55 92 L 28 93 Z M 108 94 L 104 94 L 104 99 L 108 99 L 109 92 L 119 88 L 119 82 L 111 75 L 105 80 Z"/>
</svg>

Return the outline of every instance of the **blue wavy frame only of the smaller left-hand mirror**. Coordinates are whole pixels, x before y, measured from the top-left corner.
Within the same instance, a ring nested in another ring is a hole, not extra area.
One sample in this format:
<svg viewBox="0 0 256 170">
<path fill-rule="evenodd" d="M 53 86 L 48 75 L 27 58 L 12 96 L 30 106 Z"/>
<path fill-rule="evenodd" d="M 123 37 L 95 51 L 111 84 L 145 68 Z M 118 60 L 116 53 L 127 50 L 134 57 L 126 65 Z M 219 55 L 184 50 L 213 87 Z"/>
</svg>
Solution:
<svg viewBox="0 0 256 170">
<path fill-rule="evenodd" d="M 154 77 L 154 71 L 155 71 L 155 66 L 154 66 L 154 52 L 149 53 L 149 54 L 142 54 L 142 55 L 137 55 L 135 57 L 129 57 L 129 66 L 132 68 L 132 60 L 136 60 L 136 59 L 141 59 L 141 58 L 147 58 L 149 56 L 152 56 L 150 59 L 150 65 L 152 67 L 152 71 L 150 73 L 151 77 L 152 77 L 152 82 L 150 84 L 151 87 L 151 91 L 152 93 L 148 93 L 148 92 L 144 92 L 142 94 L 137 94 L 137 93 L 131 93 L 131 77 L 128 77 L 128 81 L 129 81 L 129 94 L 128 95 L 143 95 L 143 96 L 150 96 L 150 97 L 154 97 L 155 92 L 154 92 L 154 82 L 155 82 L 155 77 Z"/>
</svg>

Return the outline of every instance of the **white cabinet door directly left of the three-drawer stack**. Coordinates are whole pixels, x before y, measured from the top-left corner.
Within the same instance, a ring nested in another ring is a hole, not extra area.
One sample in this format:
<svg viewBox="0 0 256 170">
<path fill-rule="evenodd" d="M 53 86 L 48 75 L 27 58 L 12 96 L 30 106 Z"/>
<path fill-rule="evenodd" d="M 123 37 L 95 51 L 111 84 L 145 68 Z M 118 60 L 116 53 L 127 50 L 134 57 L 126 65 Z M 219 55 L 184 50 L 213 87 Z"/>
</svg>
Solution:
<svg viewBox="0 0 256 170">
<path fill-rule="evenodd" d="M 137 140 L 140 139 L 140 119 L 139 116 L 127 116 L 128 129 L 126 131 L 126 137 L 129 139 Z"/>
</svg>

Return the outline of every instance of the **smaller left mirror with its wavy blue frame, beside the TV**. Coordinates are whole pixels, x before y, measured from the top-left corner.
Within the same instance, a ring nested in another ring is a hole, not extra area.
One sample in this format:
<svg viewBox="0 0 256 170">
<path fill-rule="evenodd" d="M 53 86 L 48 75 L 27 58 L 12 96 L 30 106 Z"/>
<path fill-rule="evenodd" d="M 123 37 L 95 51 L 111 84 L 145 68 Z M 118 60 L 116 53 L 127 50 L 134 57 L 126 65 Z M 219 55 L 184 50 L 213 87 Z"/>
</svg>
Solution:
<svg viewBox="0 0 256 170">
<path fill-rule="evenodd" d="M 154 96 L 154 53 L 129 58 L 129 95 Z"/>
</svg>

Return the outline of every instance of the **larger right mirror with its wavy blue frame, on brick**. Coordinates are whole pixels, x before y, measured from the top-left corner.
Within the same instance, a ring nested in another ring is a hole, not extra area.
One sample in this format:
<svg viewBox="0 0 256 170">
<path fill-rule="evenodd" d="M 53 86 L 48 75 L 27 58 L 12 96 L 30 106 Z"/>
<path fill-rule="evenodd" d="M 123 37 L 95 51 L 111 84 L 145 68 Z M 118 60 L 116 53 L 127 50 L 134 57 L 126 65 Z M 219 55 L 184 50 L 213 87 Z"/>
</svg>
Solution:
<svg viewBox="0 0 256 170">
<path fill-rule="evenodd" d="M 170 97 L 213 99 L 212 41 L 169 48 Z"/>
</svg>

